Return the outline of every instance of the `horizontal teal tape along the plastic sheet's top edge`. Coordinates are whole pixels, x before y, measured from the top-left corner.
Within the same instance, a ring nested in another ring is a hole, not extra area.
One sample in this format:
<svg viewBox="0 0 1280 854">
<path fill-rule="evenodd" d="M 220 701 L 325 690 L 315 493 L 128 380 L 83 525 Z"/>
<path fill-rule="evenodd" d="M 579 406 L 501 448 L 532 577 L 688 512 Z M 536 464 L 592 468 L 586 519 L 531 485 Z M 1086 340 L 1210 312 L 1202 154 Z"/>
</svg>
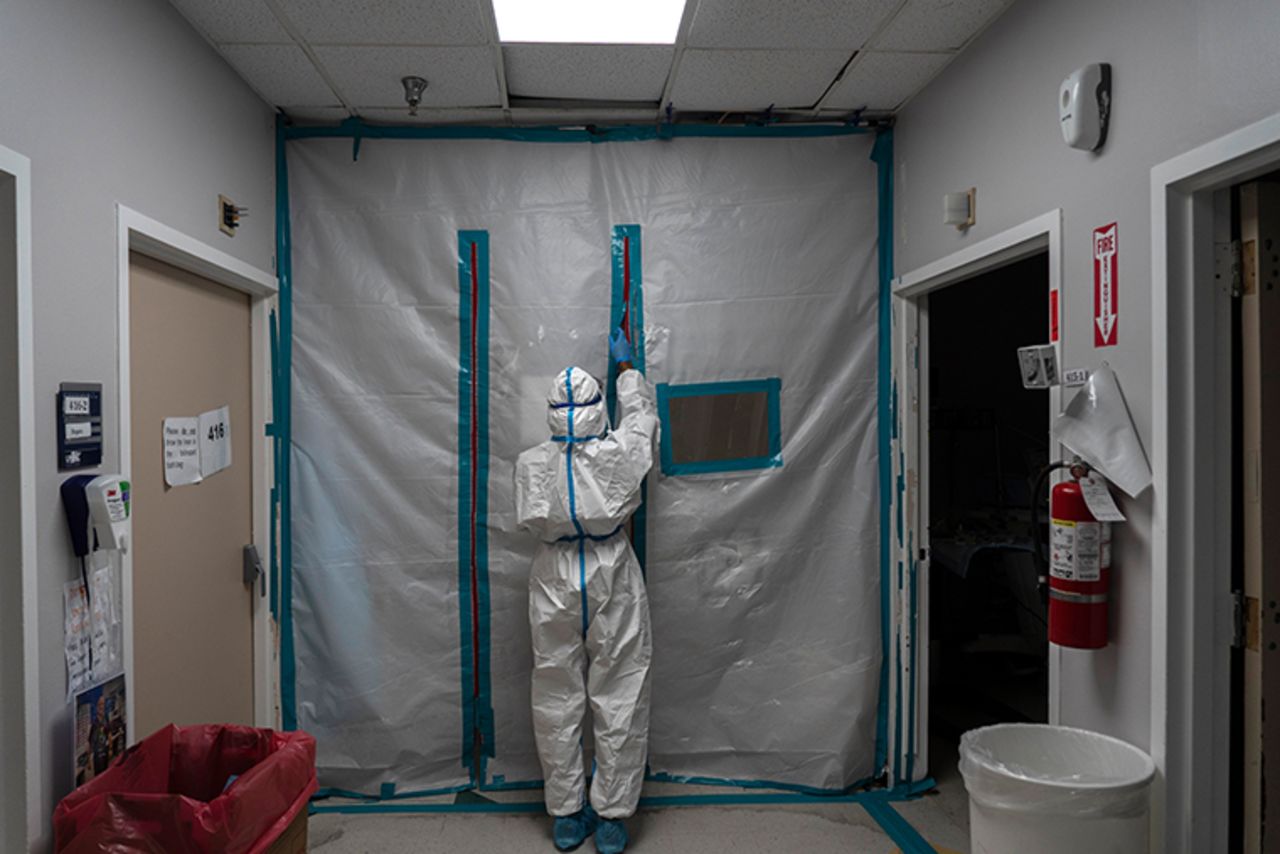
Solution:
<svg viewBox="0 0 1280 854">
<path fill-rule="evenodd" d="M 717 137 L 717 138 L 777 138 L 794 140 L 806 137 L 832 137 L 870 133 L 872 128 L 852 124 L 768 124 L 768 125 L 723 125 L 723 124 L 636 124 L 636 125 L 598 125 L 593 129 L 559 127 L 411 127 L 366 124 L 362 119 L 349 118 L 340 124 L 328 127 L 289 127 L 289 140 L 506 140 L 509 142 L 643 142 L 646 140 L 673 140 L 678 137 Z M 353 152 L 358 154 L 358 149 Z"/>
</svg>

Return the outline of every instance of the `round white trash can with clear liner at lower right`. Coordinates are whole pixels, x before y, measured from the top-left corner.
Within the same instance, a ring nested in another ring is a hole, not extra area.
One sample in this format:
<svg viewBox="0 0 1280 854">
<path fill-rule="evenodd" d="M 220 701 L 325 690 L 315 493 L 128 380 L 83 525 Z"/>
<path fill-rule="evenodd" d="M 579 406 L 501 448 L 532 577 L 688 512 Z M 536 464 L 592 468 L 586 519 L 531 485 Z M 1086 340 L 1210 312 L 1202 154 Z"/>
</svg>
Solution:
<svg viewBox="0 0 1280 854">
<path fill-rule="evenodd" d="M 1135 854 L 1149 849 L 1156 764 L 1088 730 L 1005 723 L 965 732 L 973 854 Z"/>
</svg>

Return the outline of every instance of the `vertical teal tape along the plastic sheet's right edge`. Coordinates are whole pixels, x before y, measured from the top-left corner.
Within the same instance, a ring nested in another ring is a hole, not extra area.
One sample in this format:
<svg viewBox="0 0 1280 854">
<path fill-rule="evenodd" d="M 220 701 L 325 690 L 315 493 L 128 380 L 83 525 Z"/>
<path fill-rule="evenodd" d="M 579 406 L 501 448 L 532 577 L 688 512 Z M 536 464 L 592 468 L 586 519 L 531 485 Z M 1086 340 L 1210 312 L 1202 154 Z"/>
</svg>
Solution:
<svg viewBox="0 0 1280 854">
<path fill-rule="evenodd" d="M 892 478 L 892 447 L 890 442 L 891 419 L 890 410 L 890 383 L 892 371 L 893 351 L 891 346 L 891 320 L 892 320 L 892 278 L 893 278 L 893 131 L 883 129 L 876 134 L 876 143 L 872 146 L 872 160 L 876 163 L 876 192 L 877 192 L 877 256 L 879 271 L 879 347 L 878 347 L 878 383 L 877 383 L 877 437 L 879 447 L 879 495 L 881 495 L 881 688 L 879 709 L 876 717 L 876 767 L 887 768 L 888 763 L 888 650 L 890 650 L 890 513 L 892 503 L 891 478 Z"/>
</svg>

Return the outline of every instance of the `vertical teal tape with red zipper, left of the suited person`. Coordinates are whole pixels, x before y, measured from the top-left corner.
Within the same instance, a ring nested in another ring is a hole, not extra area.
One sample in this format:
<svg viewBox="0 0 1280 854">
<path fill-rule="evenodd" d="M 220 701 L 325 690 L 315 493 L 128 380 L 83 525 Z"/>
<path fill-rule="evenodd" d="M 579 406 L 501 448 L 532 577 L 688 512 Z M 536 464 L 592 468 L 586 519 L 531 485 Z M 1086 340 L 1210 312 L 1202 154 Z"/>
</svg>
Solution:
<svg viewBox="0 0 1280 854">
<path fill-rule="evenodd" d="M 493 757 L 489 641 L 489 233 L 458 232 L 458 609 L 462 764 Z M 472 584 L 474 581 L 474 584 Z"/>
</svg>

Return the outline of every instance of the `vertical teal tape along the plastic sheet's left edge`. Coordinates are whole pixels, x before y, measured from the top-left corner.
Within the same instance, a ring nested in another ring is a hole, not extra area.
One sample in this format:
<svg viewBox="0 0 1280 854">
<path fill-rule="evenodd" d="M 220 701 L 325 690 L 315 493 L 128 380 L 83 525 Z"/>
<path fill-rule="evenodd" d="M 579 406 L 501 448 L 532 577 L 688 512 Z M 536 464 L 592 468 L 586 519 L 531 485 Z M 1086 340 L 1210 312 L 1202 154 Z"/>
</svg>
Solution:
<svg viewBox="0 0 1280 854">
<path fill-rule="evenodd" d="M 280 490 L 280 723 L 298 729 L 297 662 L 293 638 L 293 245 L 289 227 L 289 172 L 284 117 L 275 117 L 275 270 L 280 292 L 279 412 L 276 487 Z"/>
</svg>

